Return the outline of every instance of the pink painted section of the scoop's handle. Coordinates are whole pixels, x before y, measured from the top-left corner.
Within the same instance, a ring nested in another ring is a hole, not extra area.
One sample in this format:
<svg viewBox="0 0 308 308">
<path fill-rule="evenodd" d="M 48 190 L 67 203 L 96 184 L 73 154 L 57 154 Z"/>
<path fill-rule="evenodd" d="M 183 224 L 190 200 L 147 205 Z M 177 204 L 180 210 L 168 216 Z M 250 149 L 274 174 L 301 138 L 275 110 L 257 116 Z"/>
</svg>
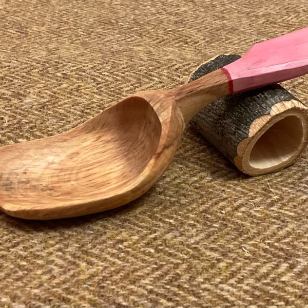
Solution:
<svg viewBox="0 0 308 308">
<path fill-rule="evenodd" d="M 308 73 L 308 27 L 254 45 L 222 68 L 229 92 L 259 88 Z"/>
</svg>

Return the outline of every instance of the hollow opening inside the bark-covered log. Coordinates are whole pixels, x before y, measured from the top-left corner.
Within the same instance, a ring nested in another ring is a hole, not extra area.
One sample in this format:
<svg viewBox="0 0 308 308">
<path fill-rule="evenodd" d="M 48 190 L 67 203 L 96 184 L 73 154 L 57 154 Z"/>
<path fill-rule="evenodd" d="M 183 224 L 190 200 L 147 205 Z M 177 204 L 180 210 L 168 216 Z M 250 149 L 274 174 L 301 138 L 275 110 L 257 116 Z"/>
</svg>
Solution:
<svg viewBox="0 0 308 308">
<path fill-rule="evenodd" d="M 301 119 L 296 115 L 276 122 L 254 145 L 249 164 L 254 168 L 270 168 L 296 155 L 303 139 Z"/>
</svg>

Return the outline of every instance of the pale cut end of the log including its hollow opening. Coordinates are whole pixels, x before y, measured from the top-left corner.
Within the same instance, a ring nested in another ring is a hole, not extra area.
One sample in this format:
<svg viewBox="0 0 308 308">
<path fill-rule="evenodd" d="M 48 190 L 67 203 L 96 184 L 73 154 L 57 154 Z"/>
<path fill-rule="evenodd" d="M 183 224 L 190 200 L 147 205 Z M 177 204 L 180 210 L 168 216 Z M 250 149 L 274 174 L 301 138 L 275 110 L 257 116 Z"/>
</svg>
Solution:
<svg viewBox="0 0 308 308">
<path fill-rule="evenodd" d="M 249 136 L 238 146 L 236 166 L 248 175 L 258 176 L 294 163 L 308 142 L 307 110 L 292 100 L 277 103 L 269 115 L 256 119 Z"/>
</svg>

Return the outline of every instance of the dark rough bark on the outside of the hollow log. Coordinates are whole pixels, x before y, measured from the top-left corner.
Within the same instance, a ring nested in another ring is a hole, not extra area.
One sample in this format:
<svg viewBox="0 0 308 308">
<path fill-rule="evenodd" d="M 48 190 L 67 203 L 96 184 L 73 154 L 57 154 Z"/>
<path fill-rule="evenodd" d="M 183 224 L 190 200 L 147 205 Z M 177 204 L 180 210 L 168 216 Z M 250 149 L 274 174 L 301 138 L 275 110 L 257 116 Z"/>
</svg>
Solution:
<svg viewBox="0 0 308 308">
<path fill-rule="evenodd" d="M 239 57 L 236 54 L 220 55 L 201 65 L 192 73 L 189 82 L 234 62 Z M 238 146 L 241 141 L 248 138 L 253 122 L 266 114 L 271 114 L 272 107 L 277 103 L 291 100 L 300 103 L 293 94 L 275 84 L 216 100 L 201 110 L 190 123 L 235 164 Z M 236 165 L 241 169 L 238 164 Z"/>
</svg>

